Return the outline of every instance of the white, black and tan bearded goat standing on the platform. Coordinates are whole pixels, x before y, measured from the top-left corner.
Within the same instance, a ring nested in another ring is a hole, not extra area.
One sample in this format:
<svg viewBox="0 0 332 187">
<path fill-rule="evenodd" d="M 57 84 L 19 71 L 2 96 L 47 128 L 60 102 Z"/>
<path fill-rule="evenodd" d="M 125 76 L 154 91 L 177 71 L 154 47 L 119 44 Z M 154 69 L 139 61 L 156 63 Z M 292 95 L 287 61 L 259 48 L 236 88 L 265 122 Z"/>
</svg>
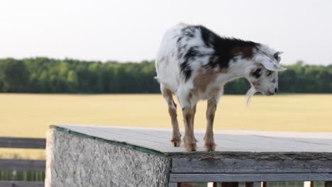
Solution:
<svg viewBox="0 0 332 187">
<path fill-rule="evenodd" d="M 223 86 L 233 79 L 245 77 L 250 82 L 248 99 L 255 92 L 271 96 L 277 92 L 280 54 L 267 45 L 220 37 L 204 26 L 179 23 L 167 30 L 155 60 L 157 81 L 168 104 L 172 120 L 172 145 L 179 147 L 181 134 L 177 122 L 176 94 L 184 118 L 184 147 L 197 149 L 194 116 L 198 101 L 207 100 L 204 148 L 214 151 L 214 114 Z"/>
</svg>

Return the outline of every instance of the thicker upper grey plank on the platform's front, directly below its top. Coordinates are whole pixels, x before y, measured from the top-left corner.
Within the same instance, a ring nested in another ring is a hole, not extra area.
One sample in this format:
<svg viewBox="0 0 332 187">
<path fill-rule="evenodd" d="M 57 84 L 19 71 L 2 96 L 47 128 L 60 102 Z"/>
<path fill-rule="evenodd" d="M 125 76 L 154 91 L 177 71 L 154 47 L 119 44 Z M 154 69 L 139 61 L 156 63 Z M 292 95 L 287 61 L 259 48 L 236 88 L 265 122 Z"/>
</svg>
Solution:
<svg viewBox="0 0 332 187">
<path fill-rule="evenodd" d="M 172 173 L 329 173 L 332 172 L 331 158 L 265 160 L 188 157 L 173 159 Z"/>
</svg>

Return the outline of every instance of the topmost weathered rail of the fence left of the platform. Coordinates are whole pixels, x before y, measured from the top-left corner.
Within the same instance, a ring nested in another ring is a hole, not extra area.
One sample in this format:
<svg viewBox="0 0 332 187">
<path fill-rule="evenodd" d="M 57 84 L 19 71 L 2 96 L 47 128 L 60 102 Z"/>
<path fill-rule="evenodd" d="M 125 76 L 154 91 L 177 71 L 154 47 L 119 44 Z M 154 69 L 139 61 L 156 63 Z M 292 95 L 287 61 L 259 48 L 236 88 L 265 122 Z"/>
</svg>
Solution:
<svg viewBox="0 0 332 187">
<path fill-rule="evenodd" d="M 45 138 L 0 137 L 0 147 L 4 148 L 45 149 L 45 145 Z"/>
</svg>

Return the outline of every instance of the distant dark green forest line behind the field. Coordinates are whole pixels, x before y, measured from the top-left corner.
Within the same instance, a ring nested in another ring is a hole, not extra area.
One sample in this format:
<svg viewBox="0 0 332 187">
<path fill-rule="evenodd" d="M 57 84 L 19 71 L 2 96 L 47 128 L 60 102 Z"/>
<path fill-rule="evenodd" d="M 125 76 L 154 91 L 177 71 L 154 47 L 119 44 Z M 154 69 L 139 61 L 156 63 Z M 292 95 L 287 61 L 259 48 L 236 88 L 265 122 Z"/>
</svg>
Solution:
<svg viewBox="0 0 332 187">
<path fill-rule="evenodd" d="M 282 93 L 332 93 L 332 65 L 286 66 L 279 74 Z M 153 61 L 140 63 L 55 60 L 45 57 L 0 60 L 0 92 L 137 94 L 160 93 Z M 243 94 L 250 85 L 237 79 L 226 85 L 226 94 Z"/>
</svg>

